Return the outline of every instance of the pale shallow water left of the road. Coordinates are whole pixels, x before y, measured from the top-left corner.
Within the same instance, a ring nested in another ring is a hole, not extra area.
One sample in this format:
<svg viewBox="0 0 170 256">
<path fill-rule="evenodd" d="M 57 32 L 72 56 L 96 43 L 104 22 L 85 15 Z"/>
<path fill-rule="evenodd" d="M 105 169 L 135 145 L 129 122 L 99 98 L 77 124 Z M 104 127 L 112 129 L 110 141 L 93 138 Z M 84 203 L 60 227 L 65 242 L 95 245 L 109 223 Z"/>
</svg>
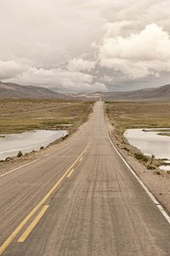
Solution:
<svg viewBox="0 0 170 256">
<path fill-rule="evenodd" d="M 8 156 L 16 156 L 19 151 L 22 154 L 38 150 L 48 146 L 59 137 L 63 137 L 67 131 L 26 131 L 17 134 L 0 135 L 0 160 L 5 160 Z M 4 137 L 3 137 L 4 136 Z"/>
</svg>

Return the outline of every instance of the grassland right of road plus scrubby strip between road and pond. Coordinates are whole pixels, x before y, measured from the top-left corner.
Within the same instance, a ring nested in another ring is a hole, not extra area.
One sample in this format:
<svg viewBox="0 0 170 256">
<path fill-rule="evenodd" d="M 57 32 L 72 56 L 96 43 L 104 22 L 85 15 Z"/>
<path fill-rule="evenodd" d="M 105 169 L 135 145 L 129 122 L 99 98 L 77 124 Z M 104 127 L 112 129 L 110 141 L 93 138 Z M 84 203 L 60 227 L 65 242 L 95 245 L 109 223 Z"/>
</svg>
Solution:
<svg viewBox="0 0 170 256">
<path fill-rule="evenodd" d="M 112 137 L 116 145 L 124 149 L 149 170 L 166 164 L 164 160 L 154 159 L 141 154 L 123 137 L 124 131 L 133 128 L 170 128 L 170 103 L 163 102 L 105 102 L 105 113 L 113 125 Z M 165 131 L 165 130 L 162 130 Z M 161 134 L 169 136 L 167 134 Z M 155 172 L 159 174 L 158 171 Z"/>
</svg>

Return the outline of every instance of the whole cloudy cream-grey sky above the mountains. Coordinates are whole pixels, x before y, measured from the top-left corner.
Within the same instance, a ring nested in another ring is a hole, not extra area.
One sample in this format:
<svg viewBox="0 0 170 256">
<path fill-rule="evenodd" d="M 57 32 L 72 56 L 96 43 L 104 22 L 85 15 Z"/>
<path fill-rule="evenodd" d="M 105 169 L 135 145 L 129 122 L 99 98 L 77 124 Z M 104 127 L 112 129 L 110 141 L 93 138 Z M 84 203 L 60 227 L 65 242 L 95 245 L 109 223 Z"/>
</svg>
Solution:
<svg viewBox="0 0 170 256">
<path fill-rule="evenodd" d="M 170 84 L 169 0 L 0 0 L 0 81 L 59 92 Z"/>
</svg>

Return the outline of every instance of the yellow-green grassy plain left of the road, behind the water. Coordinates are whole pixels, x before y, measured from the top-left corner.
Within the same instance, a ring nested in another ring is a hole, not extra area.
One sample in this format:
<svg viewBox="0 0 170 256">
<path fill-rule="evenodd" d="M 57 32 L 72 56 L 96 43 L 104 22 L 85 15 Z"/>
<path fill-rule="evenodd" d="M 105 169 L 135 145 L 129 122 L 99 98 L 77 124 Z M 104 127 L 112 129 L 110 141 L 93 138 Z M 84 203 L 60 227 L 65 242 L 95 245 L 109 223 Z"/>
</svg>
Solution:
<svg viewBox="0 0 170 256">
<path fill-rule="evenodd" d="M 73 131 L 88 119 L 93 104 L 59 99 L 0 97 L 0 134 L 65 127 Z"/>
</svg>

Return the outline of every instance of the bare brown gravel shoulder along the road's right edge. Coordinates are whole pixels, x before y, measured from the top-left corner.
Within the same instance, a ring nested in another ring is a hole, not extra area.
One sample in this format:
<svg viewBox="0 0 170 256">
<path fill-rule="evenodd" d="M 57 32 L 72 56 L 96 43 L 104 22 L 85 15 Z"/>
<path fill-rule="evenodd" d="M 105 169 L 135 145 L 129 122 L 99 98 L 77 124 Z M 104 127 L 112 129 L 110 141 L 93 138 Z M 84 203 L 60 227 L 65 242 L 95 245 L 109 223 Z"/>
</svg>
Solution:
<svg viewBox="0 0 170 256">
<path fill-rule="evenodd" d="M 140 154 L 138 148 L 134 148 L 127 142 L 125 137 L 118 129 L 116 129 L 116 121 L 108 119 L 105 115 L 107 129 L 110 137 L 117 150 L 122 154 L 122 157 L 127 161 L 128 165 L 131 166 L 133 171 L 139 176 L 146 187 L 155 195 L 156 199 L 160 201 L 161 205 L 167 209 L 170 213 L 170 174 L 156 167 L 155 170 L 148 170 L 144 164 L 140 163 L 133 157 L 133 154 Z M 129 151 L 127 152 L 127 148 Z M 156 174 L 160 172 L 160 175 Z"/>
</svg>

